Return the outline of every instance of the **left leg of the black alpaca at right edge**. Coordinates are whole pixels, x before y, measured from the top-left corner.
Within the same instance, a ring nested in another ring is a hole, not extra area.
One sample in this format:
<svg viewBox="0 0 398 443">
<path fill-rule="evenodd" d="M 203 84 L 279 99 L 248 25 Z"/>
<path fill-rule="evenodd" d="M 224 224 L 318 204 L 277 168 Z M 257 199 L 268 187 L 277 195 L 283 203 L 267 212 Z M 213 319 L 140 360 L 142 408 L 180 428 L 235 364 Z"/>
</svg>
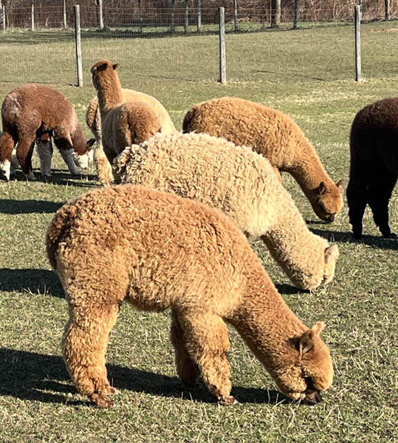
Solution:
<svg viewBox="0 0 398 443">
<path fill-rule="evenodd" d="M 368 183 L 359 177 L 350 177 L 347 186 L 348 217 L 356 239 L 362 237 L 362 219 L 368 203 Z"/>
</svg>

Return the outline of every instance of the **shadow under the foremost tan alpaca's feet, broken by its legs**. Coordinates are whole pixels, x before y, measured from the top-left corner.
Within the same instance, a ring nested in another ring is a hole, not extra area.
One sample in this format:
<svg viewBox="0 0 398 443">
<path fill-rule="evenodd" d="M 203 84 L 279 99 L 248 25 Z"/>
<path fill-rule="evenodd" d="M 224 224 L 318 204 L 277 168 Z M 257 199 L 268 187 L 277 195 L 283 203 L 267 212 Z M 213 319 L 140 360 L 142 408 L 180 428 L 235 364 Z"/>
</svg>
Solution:
<svg viewBox="0 0 398 443">
<path fill-rule="evenodd" d="M 198 383 L 192 392 L 185 392 L 177 377 L 154 374 L 145 370 L 107 365 L 108 377 L 116 389 L 145 392 L 156 397 L 174 397 L 201 403 L 215 403 L 203 383 Z M 70 397 L 76 390 L 60 356 L 37 354 L 0 348 L 0 395 L 43 403 L 89 405 L 89 401 Z M 48 392 L 53 391 L 53 392 Z M 289 399 L 274 390 L 260 388 L 233 388 L 241 403 L 278 404 Z M 122 401 L 116 396 L 116 402 Z"/>
</svg>

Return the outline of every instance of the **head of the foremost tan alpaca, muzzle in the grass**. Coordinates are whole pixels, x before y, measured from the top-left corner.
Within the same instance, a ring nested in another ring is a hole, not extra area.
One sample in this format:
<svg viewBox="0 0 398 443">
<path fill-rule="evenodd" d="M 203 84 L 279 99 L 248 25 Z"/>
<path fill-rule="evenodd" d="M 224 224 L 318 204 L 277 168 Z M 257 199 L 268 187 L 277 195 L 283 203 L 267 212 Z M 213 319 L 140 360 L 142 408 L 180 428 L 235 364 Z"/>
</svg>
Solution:
<svg viewBox="0 0 398 443">
<path fill-rule="evenodd" d="M 317 322 L 302 336 L 291 339 L 295 360 L 289 361 L 286 367 L 273 374 L 278 388 L 293 400 L 319 403 L 322 399 L 320 392 L 332 385 L 332 357 L 329 348 L 320 338 L 324 327 L 325 323 Z"/>
</svg>

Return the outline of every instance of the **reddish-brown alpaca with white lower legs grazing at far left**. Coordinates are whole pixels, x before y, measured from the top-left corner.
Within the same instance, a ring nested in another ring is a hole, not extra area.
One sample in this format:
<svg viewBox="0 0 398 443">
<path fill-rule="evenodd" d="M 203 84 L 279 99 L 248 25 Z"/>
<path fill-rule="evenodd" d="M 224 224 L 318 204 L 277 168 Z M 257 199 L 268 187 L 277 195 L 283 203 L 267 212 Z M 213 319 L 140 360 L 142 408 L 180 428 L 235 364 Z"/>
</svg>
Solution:
<svg viewBox="0 0 398 443">
<path fill-rule="evenodd" d="M 10 179 L 12 150 L 16 147 L 17 160 L 26 179 L 35 180 L 32 155 L 35 141 L 43 137 L 42 173 L 51 170 L 52 147 L 49 134 L 54 138 L 71 174 L 78 174 L 73 154 L 87 156 L 94 141 L 86 141 L 75 109 L 62 93 L 39 84 L 21 84 L 10 91 L 1 107 L 3 134 L 0 138 L 0 170 Z"/>
</svg>

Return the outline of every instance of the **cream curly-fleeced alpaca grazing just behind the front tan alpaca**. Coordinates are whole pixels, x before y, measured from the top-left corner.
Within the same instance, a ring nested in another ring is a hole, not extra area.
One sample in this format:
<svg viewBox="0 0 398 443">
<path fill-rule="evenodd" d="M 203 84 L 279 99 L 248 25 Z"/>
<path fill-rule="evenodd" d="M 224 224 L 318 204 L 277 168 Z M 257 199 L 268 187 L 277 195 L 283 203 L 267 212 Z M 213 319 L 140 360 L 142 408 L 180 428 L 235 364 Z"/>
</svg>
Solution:
<svg viewBox="0 0 398 443">
<path fill-rule="evenodd" d="M 207 134 L 157 134 L 127 147 L 116 181 L 174 192 L 218 208 L 251 239 L 261 237 L 293 284 L 315 289 L 334 277 L 337 245 L 309 231 L 268 160 Z"/>
</svg>

